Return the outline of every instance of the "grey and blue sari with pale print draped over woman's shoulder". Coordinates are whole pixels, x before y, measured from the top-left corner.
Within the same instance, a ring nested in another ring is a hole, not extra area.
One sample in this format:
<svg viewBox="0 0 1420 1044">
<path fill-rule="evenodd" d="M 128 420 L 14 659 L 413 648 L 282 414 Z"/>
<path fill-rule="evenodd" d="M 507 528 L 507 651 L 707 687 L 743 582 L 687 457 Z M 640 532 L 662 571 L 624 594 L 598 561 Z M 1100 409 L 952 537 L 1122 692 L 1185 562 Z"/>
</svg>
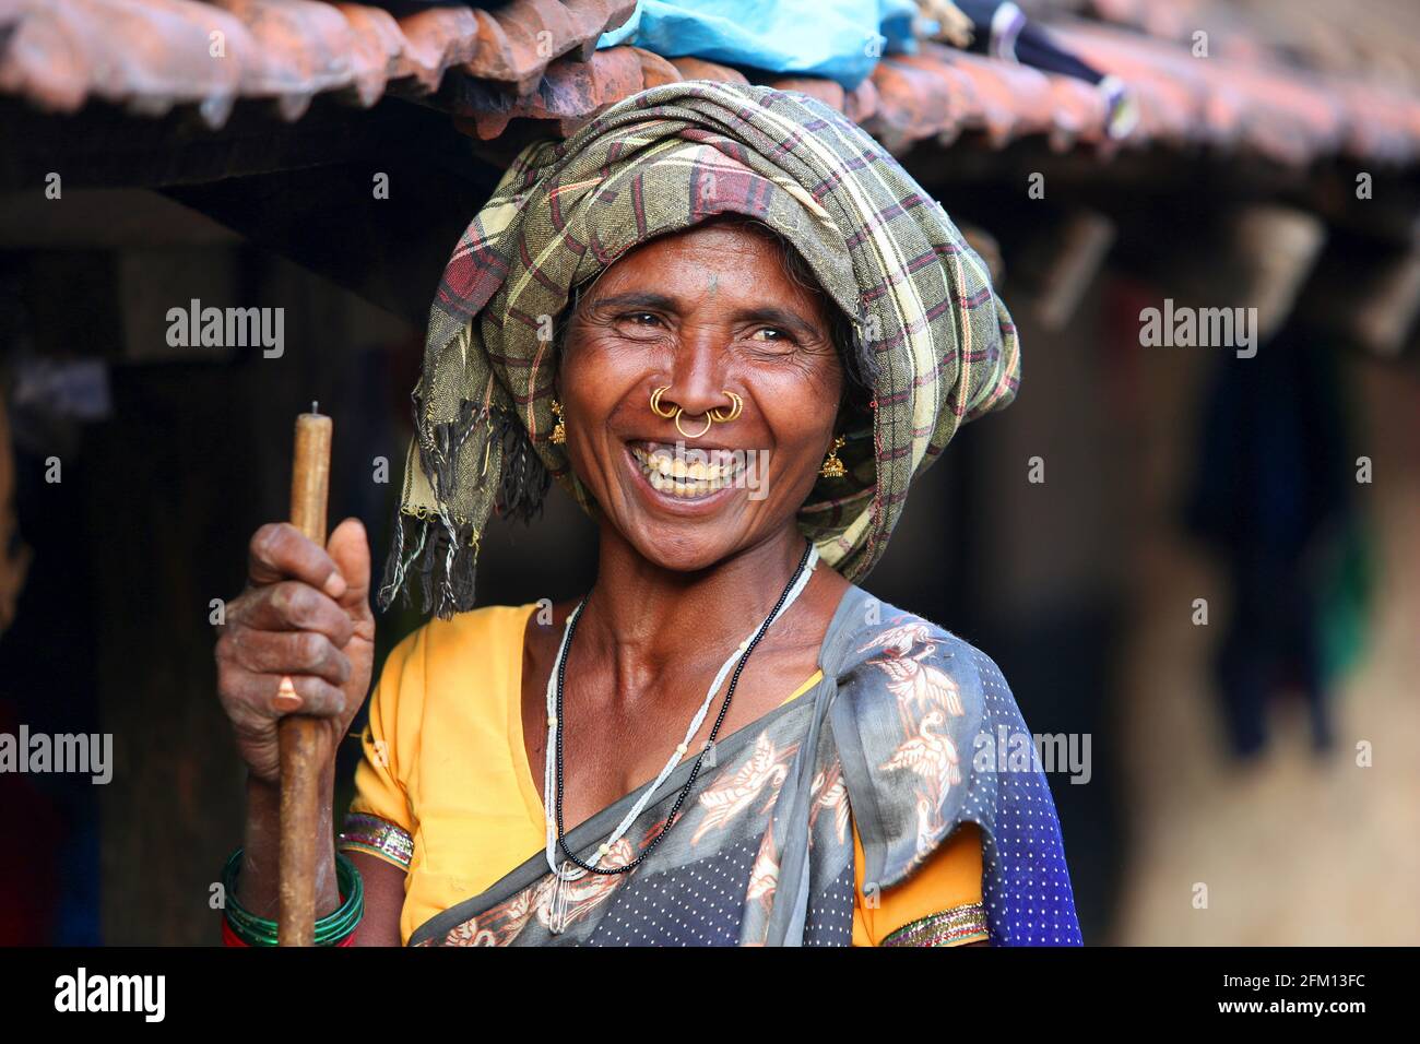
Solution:
<svg viewBox="0 0 1420 1044">
<path fill-rule="evenodd" d="M 819 649 L 824 679 L 720 740 L 676 828 L 633 871 L 559 882 L 538 852 L 419 926 L 412 946 L 846 946 L 863 893 L 905 881 L 963 822 L 981 830 L 995 945 L 1079 945 L 1059 822 L 1001 672 L 984 653 L 858 587 Z M 1004 754 L 1004 751 L 1000 751 Z M 662 784 L 604 865 L 653 838 L 693 761 Z M 567 835 L 589 861 L 638 794 Z M 561 889 L 559 891 L 559 885 Z M 895 933 L 940 939 L 947 919 Z M 552 930 L 552 928 L 561 930 Z"/>
</svg>

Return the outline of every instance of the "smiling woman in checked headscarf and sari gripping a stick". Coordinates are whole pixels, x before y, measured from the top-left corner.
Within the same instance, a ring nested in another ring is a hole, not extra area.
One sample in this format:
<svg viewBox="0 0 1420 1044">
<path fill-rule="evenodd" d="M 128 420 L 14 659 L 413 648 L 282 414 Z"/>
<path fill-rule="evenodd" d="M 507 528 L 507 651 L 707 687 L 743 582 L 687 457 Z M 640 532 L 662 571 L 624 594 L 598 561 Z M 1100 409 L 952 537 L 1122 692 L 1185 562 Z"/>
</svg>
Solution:
<svg viewBox="0 0 1420 1044">
<path fill-rule="evenodd" d="M 527 151 L 432 312 L 381 601 L 436 615 L 372 697 L 320 937 L 1078 943 L 1038 764 L 978 751 L 1025 734 L 995 665 L 852 582 L 1017 369 L 940 205 L 812 99 L 673 84 Z M 548 474 L 595 585 L 473 609 L 488 514 Z M 258 530 L 217 645 L 237 942 L 270 940 L 275 720 L 321 717 L 334 761 L 373 632 L 358 521 Z"/>
</svg>

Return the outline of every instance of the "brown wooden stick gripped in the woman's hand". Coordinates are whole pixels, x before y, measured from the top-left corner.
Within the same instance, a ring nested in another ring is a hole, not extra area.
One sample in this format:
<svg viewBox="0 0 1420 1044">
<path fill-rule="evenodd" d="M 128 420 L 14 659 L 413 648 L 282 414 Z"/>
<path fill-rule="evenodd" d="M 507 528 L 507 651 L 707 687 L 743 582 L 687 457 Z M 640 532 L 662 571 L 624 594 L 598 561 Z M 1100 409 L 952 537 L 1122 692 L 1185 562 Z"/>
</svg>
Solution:
<svg viewBox="0 0 1420 1044">
<path fill-rule="evenodd" d="M 331 419 L 317 412 L 295 419 L 291 459 L 291 524 L 325 547 L 325 500 L 331 484 Z M 315 866 L 320 858 L 320 726 L 290 714 L 278 726 L 281 744 L 280 946 L 315 945 Z"/>
</svg>

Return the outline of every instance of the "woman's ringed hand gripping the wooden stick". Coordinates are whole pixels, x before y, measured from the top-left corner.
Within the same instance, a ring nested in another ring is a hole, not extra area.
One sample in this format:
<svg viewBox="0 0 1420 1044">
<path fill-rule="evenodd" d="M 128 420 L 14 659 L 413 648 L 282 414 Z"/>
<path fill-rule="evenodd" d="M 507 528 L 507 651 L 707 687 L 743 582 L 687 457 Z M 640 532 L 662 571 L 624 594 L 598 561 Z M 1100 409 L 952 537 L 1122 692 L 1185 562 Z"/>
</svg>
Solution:
<svg viewBox="0 0 1420 1044">
<path fill-rule="evenodd" d="M 251 537 L 247 589 L 217 628 L 217 693 L 251 776 L 280 778 L 277 722 L 310 714 L 335 750 L 365 702 L 375 656 L 369 540 L 346 518 L 327 547 L 290 523 Z M 278 695 L 288 676 L 295 695 Z"/>
</svg>

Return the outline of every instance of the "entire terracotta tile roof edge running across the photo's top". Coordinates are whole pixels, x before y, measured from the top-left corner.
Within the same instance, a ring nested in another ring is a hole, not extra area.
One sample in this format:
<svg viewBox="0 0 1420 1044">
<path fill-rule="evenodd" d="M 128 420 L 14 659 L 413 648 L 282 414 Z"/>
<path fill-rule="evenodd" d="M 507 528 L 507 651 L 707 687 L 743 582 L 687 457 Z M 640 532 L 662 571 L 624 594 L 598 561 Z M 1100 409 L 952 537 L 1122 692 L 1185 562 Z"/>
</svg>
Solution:
<svg viewBox="0 0 1420 1044">
<path fill-rule="evenodd" d="M 1379 3 L 1397 21 L 1358 16 L 1358 4 L 1338 11 L 1332 0 L 1025 4 L 1061 43 L 1135 91 L 1139 124 L 1122 143 L 1108 139 L 1105 102 L 1085 82 L 939 44 L 883 60 L 852 92 L 802 77 L 763 82 L 822 98 L 895 152 L 976 132 L 993 146 L 1042 135 L 1059 149 L 1159 145 L 1287 165 L 1323 156 L 1411 163 L 1420 158 L 1420 44 L 1410 41 L 1420 16 L 1402 4 Z M 567 132 L 676 78 L 744 80 L 696 58 L 594 51 L 633 7 L 513 0 L 494 11 L 452 6 L 396 17 L 324 0 L 0 0 L 0 92 L 57 112 L 89 99 L 141 115 L 193 105 L 212 126 L 239 98 L 274 99 L 297 119 L 317 94 L 371 105 L 393 92 L 425 97 L 491 139 L 514 118 Z M 1200 27 L 1210 34 L 1206 58 L 1190 50 Z M 1402 28 L 1406 41 L 1384 40 Z M 224 57 L 213 57 L 214 40 Z"/>
</svg>

